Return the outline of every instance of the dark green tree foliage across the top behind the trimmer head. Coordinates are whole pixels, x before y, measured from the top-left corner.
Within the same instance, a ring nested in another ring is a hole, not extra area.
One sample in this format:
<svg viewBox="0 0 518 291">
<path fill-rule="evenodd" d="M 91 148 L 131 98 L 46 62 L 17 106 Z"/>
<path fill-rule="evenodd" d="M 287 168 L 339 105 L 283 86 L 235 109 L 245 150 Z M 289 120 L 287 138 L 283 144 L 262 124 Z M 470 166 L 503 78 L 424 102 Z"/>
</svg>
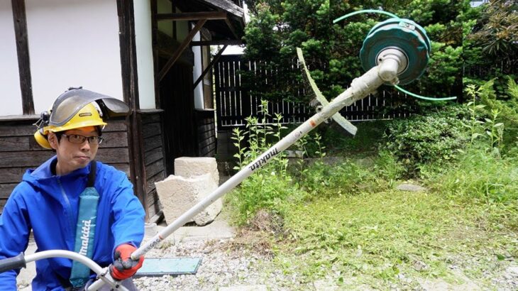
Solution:
<svg viewBox="0 0 518 291">
<path fill-rule="evenodd" d="M 470 6 L 470 0 L 250 0 L 247 4 L 252 17 L 246 27 L 246 58 L 261 60 L 261 73 L 249 73 L 244 81 L 266 99 L 307 104 L 299 96 L 301 74 L 291 69 L 296 65 L 297 47 L 302 48 L 312 77 L 328 99 L 362 75 L 359 54 L 363 40 L 387 16 L 364 13 L 332 23 L 362 9 L 409 18 L 429 35 L 429 65 L 417 81 L 405 86 L 411 92 L 462 97 L 463 81 L 492 77 L 497 77 L 498 91 L 498 87 L 506 88 L 502 74 L 515 72 L 518 65 L 518 4 L 512 0 L 491 0 L 476 8 Z M 488 69 L 497 63 L 500 71 Z M 480 77 L 482 73 L 489 75 Z M 471 79 L 463 80 L 463 74 Z"/>
</svg>

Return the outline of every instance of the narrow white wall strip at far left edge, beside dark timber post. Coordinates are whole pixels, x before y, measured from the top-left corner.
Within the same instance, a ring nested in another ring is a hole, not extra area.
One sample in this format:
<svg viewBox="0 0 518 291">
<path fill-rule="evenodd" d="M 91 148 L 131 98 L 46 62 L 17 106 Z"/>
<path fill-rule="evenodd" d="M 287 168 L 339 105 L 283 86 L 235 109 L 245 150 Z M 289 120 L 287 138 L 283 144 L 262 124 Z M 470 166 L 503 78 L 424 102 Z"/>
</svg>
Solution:
<svg viewBox="0 0 518 291">
<path fill-rule="evenodd" d="M 0 116 L 23 114 L 11 1 L 0 1 Z"/>
</svg>

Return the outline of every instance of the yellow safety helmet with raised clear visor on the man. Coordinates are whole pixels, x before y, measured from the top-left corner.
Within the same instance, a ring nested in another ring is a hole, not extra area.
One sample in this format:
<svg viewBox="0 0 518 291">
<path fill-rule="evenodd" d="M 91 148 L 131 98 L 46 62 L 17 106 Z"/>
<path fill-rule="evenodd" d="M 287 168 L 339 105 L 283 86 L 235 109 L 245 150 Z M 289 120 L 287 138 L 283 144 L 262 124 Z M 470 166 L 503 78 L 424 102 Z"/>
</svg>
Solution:
<svg viewBox="0 0 518 291">
<path fill-rule="evenodd" d="M 106 118 L 125 116 L 129 107 L 123 101 L 103 94 L 79 88 L 70 88 L 57 97 L 50 111 L 43 111 L 40 120 L 35 123 L 38 130 L 34 133 L 36 142 L 43 148 L 52 149 L 48 143 L 49 132 L 68 131 L 74 128 L 96 126 L 100 131 L 106 126 L 97 107 Z M 104 109 L 104 110 L 103 110 Z"/>
</svg>

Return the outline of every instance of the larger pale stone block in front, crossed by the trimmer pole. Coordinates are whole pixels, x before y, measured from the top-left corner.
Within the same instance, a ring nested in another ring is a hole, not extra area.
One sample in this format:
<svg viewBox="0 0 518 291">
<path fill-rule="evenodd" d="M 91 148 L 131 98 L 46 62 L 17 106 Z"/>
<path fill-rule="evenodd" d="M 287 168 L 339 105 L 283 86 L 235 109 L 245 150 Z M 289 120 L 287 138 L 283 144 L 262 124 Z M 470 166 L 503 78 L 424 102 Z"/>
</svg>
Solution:
<svg viewBox="0 0 518 291">
<path fill-rule="evenodd" d="M 170 175 L 165 180 L 155 182 L 155 186 L 162 204 L 165 221 L 167 224 L 171 224 L 194 204 L 216 190 L 218 184 L 214 182 L 210 174 L 193 177 Z M 221 212 L 222 206 L 221 199 L 218 199 L 194 216 L 192 221 L 199 226 L 208 224 Z"/>
</svg>

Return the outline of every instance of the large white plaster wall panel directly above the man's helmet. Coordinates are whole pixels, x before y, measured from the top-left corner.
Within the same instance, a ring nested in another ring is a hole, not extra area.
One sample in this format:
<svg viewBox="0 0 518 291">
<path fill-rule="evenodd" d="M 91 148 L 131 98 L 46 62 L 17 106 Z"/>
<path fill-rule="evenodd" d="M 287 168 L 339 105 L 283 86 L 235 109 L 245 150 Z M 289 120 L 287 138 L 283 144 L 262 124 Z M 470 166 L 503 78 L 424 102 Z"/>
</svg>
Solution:
<svg viewBox="0 0 518 291">
<path fill-rule="evenodd" d="M 67 87 L 123 99 L 116 1 L 26 0 L 35 113 Z"/>
</svg>

